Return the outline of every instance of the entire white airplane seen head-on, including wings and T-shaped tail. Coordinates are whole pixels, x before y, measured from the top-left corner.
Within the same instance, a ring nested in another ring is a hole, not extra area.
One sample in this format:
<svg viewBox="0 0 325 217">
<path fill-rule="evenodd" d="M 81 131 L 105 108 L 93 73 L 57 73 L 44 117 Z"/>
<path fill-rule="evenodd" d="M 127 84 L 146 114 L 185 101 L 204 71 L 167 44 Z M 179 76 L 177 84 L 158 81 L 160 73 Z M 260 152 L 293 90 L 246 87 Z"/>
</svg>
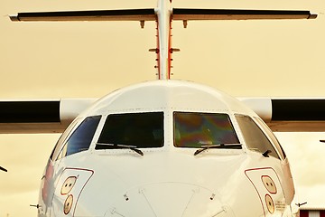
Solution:
<svg viewBox="0 0 325 217">
<path fill-rule="evenodd" d="M 62 133 L 38 216 L 292 216 L 294 185 L 274 131 L 324 128 L 325 99 L 235 99 L 172 80 L 172 21 L 315 19 L 309 11 L 156 8 L 37 12 L 12 21 L 157 24 L 157 80 L 102 99 L 0 102 L 1 133 Z M 305 105 L 310 105 L 306 107 Z"/>
</svg>

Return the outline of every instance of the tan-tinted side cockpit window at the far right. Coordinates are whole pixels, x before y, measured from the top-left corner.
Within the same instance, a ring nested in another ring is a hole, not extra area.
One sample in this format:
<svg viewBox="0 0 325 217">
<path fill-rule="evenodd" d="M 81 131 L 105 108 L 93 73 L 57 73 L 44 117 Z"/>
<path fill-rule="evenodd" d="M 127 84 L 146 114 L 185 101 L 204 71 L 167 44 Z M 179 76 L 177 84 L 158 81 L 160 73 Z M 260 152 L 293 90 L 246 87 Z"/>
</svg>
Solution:
<svg viewBox="0 0 325 217">
<path fill-rule="evenodd" d="M 236 118 L 248 149 L 260 153 L 265 153 L 269 150 L 271 151 L 268 154 L 269 156 L 280 159 L 271 141 L 265 136 L 262 129 L 257 126 L 252 118 L 243 115 L 236 115 Z"/>
</svg>

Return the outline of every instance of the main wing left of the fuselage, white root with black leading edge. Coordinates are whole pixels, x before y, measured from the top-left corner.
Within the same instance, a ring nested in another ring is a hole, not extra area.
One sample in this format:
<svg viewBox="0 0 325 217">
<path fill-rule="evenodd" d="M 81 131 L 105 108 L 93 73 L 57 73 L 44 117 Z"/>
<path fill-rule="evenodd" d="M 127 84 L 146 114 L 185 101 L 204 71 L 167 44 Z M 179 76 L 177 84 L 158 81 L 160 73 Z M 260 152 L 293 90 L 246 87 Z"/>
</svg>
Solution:
<svg viewBox="0 0 325 217">
<path fill-rule="evenodd" d="M 0 99 L 0 134 L 62 133 L 96 99 Z"/>
</svg>

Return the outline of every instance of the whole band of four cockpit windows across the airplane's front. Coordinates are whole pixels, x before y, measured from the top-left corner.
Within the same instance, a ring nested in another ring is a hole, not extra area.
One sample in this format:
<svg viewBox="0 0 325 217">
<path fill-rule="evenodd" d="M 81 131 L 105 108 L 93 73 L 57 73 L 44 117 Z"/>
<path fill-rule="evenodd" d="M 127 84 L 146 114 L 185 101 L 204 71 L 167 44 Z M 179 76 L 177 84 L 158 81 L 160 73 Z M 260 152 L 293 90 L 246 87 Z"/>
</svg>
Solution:
<svg viewBox="0 0 325 217">
<path fill-rule="evenodd" d="M 138 112 L 91 116 L 79 126 L 72 123 L 64 133 L 51 158 L 60 159 L 89 149 L 159 148 L 164 146 L 164 113 Z M 168 116 L 168 115 L 167 115 Z M 235 115 L 240 134 L 247 149 L 284 159 L 283 150 L 272 132 L 259 127 L 263 121 L 244 115 Z M 102 120 L 102 128 L 98 128 Z M 93 141 L 95 133 L 99 137 Z M 268 134 L 267 134 L 268 133 Z M 275 144 L 275 145 L 274 145 Z M 242 149 L 234 124 L 225 113 L 172 112 L 172 145 L 176 148 Z M 142 152 L 141 152 L 142 153 Z"/>
</svg>

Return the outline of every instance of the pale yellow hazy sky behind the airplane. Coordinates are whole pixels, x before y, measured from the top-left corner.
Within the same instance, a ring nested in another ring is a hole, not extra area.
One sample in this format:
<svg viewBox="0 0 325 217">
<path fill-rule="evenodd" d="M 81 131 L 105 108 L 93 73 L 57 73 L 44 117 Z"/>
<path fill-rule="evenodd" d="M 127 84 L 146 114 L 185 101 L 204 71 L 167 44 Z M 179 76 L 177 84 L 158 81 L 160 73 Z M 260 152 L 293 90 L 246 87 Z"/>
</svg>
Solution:
<svg viewBox="0 0 325 217">
<path fill-rule="evenodd" d="M 155 7 L 155 1 L 0 2 L 0 98 L 100 98 L 155 79 L 155 24 L 12 23 L 33 11 Z M 193 80 L 236 97 L 325 98 L 324 0 L 174 0 L 174 7 L 300 9 L 316 20 L 200 21 L 172 24 L 176 80 Z M 296 201 L 325 207 L 324 133 L 276 134 L 292 165 Z M 36 216 L 38 187 L 60 135 L 0 135 L 0 217 Z"/>
</svg>

